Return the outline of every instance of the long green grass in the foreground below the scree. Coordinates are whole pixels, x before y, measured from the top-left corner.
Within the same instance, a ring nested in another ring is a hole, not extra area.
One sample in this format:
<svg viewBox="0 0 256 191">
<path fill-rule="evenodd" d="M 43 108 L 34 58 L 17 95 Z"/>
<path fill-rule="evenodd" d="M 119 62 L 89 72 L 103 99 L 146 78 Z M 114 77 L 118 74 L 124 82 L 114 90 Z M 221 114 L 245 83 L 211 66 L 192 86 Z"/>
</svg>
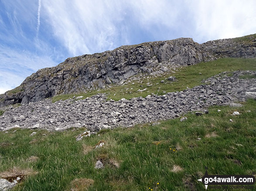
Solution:
<svg viewBox="0 0 256 191">
<path fill-rule="evenodd" d="M 214 106 L 202 116 L 187 114 L 184 122 L 172 119 L 155 126 L 104 130 L 100 136 L 79 142 L 75 136 L 85 129 L 34 130 L 33 137 L 29 129 L 0 132 L 0 172 L 14 167 L 38 172 L 14 191 L 64 191 L 75 178 L 94 180 L 89 191 L 205 191 L 197 181 L 205 166 L 210 175 L 252 175 L 256 171 L 256 100 L 243 104 L 240 108 Z M 231 115 L 236 110 L 241 115 Z M 102 148 L 83 153 L 100 140 L 105 142 Z M 28 162 L 31 156 L 38 161 Z M 98 159 L 105 162 L 104 169 L 94 169 Z M 113 160 L 119 168 L 112 165 Z M 172 172 L 174 165 L 183 170 Z"/>
</svg>

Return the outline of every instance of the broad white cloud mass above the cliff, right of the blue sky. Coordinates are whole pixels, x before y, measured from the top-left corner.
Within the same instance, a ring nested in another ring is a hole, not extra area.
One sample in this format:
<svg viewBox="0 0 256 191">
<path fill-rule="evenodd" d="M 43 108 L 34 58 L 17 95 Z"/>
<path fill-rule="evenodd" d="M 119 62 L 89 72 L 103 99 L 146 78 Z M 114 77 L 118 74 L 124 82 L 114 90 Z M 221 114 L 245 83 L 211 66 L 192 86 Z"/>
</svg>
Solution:
<svg viewBox="0 0 256 191">
<path fill-rule="evenodd" d="M 55 36 L 73 56 L 133 43 L 127 33 L 138 26 L 134 30 L 154 39 L 184 36 L 200 43 L 256 31 L 254 0 L 44 0 L 42 7 Z"/>
</svg>

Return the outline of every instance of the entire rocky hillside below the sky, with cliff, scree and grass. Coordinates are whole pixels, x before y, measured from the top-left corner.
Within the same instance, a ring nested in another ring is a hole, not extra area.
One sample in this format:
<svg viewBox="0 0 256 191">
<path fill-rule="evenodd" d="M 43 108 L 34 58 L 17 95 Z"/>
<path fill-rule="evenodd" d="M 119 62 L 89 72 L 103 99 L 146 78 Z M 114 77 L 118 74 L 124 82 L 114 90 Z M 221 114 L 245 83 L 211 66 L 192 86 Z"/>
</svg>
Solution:
<svg viewBox="0 0 256 191">
<path fill-rule="evenodd" d="M 39 70 L 0 95 L 0 191 L 205 191 L 205 167 L 255 176 L 255 39 L 122 46 Z"/>
</svg>

